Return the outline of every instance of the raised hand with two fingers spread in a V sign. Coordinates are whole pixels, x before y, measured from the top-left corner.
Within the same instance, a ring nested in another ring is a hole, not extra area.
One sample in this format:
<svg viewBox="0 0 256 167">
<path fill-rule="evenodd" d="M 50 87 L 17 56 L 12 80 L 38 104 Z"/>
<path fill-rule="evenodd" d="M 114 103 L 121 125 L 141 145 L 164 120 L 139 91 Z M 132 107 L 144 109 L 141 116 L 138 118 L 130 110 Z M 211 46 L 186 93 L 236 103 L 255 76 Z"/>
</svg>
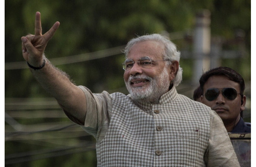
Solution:
<svg viewBox="0 0 256 167">
<path fill-rule="evenodd" d="M 31 66 L 38 67 L 43 63 L 43 53 L 48 41 L 52 38 L 55 31 L 59 28 L 60 22 L 54 23 L 52 28 L 42 35 L 41 14 L 36 13 L 35 35 L 21 37 L 22 55 Z"/>
</svg>

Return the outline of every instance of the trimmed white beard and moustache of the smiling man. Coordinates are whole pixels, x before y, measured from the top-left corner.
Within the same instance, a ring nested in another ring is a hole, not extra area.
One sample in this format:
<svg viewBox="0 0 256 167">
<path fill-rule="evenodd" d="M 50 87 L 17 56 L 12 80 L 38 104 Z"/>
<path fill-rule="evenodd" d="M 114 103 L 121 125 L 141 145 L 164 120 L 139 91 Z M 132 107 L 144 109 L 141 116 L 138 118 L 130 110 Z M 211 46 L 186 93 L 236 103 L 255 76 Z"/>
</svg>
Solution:
<svg viewBox="0 0 256 167">
<path fill-rule="evenodd" d="M 147 86 L 133 87 L 131 80 L 136 78 L 147 79 L 150 83 Z M 167 68 L 164 68 L 162 73 L 154 78 L 146 75 L 130 76 L 125 85 L 134 100 L 157 103 L 159 98 L 169 91 L 170 81 Z"/>
</svg>

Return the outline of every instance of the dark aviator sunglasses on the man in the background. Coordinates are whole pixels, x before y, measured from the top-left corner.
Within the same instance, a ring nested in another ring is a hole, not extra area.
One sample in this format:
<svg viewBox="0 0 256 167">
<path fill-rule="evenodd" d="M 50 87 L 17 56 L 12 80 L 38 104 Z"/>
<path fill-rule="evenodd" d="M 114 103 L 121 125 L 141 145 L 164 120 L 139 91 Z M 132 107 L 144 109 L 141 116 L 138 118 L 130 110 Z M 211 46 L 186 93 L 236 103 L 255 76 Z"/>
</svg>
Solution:
<svg viewBox="0 0 256 167">
<path fill-rule="evenodd" d="M 229 100 L 234 100 L 238 95 L 237 91 L 234 88 L 223 88 L 222 90 L 219 90 L 217 88 L 210 88 L 206 90 L 204 96 L 208 101 L 213 101 L 217 99 L 220 91 L 222 92 L 222 96 Z M 240 95 L 243 96 L 242 94 Z"/>
</svg>

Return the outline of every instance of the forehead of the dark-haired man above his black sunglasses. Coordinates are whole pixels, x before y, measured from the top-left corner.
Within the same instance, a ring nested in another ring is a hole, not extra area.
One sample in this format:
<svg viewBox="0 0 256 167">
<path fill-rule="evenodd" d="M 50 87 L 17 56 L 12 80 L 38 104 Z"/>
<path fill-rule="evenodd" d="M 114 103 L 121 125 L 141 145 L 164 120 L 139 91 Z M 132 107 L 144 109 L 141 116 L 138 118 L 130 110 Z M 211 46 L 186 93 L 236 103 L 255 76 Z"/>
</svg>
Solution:
<svg viewBox="0 0 256 167">
<path fill-rule="evenodd" d="M 204 90 L 209 88 L 235 88 L 236 90 L 239 90 L 240 86 L 239 83 L 231 81 L 226 76 L 211 76 L 204 84 Z"/>
</svg>

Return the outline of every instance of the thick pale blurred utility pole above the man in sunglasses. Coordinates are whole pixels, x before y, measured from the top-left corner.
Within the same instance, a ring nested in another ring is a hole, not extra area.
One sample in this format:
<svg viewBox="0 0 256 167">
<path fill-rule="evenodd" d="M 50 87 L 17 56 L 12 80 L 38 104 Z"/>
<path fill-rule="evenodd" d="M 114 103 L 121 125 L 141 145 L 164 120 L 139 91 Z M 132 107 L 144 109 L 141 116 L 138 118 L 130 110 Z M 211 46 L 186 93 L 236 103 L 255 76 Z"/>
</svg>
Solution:
<svg viewBox="0 0 256 167">
<path fill-rule="evenodd" d="M 204 71 L 210 69 L 211 51 L 211 13 L 203 10 L 196 15 L 196 28 L 193 45 L 193 84 L 199 83 L 199 78 Z"/>
</svg>

